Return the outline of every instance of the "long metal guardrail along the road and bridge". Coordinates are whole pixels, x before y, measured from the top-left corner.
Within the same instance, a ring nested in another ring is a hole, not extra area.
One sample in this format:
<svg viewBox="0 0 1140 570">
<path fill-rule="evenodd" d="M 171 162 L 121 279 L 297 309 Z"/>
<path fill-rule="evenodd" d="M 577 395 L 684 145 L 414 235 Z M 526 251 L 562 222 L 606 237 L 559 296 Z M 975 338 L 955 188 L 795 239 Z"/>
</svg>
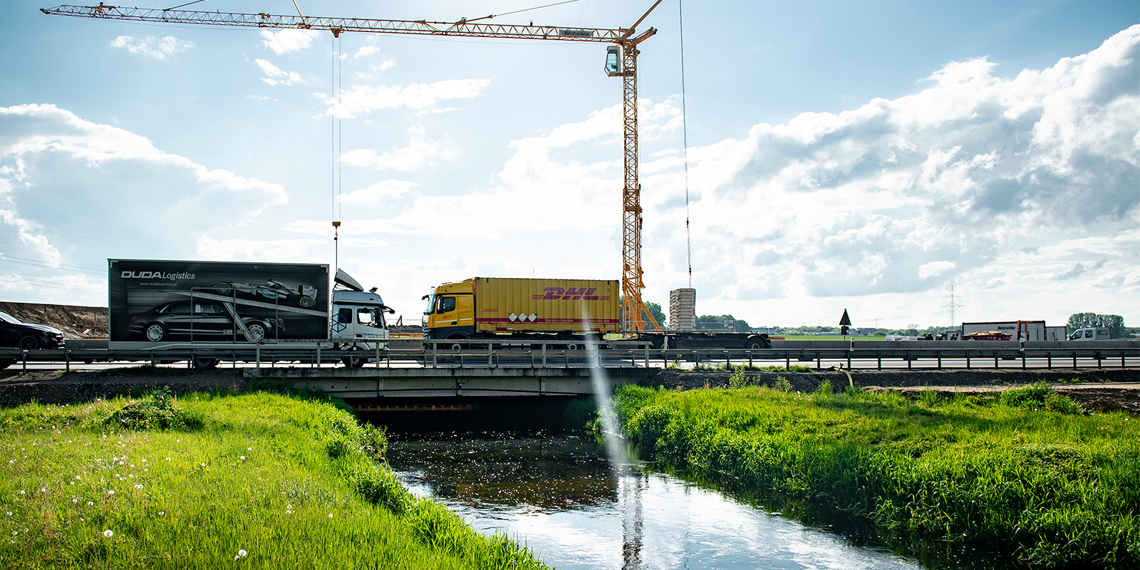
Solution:
<svg viewBox="0 0 1140 570">
<path fill-rule="evenodd" d="M 361 340 L 360 344 L 368 341 Z M 374 343 L 375 341 L 373 341 Z M 589 355 L 583 341 L 434 341 L 424 340 L 418 349 L 352 350 L 329 348 L 329 342 L 314 341 L 309 345 L 290 344 L 235 344 L 233 348 L 187 348 L 169 350 L 107 350 L 107 349 L 48 349 L 25 351 L 0 349 L 0 359 L 10 364 L 59 363 L 71 369 L 75 363 L 153 363 L 172 364 L 195 360 L 252 364 L 258 367 L 275 366 L 278 363 L 295 363 L 301 366 L 319 367 L 336 364 L 345 357 L 363 358 L 367 366 L 391 366 L 392 363 L 414 363 L 417 366 L 496 368 L 496 367 L 571 367 L 589 366 Z M 352 342 L 343 344 L 356 344 Z M 1140 347 L 1081 347 L 1081 348 L 774 348 L 774 349 L 652 349 L 648 342 L 616 341 L 598 345 L 598 357 L 606 367 L 668 367 L 674 363 L 692 364 L 693 367 L 746 365 L 767 366 L 783 364 L 789 368 L 795 363 L 813 363 L 815 369 L 824 369 L 823 361 L 839 361 L 848 369 L 882 369 L 883 361 L 905 361 L 907 369 L 914 368 L 1003 368 L 1002 361 L 1020 361 L 1021 368 L 1081 368 L 1081 367 L 1129 367 L 1127 359 L 1140 359 Z M 1090 343 L 1091 344 L 1091 343 Z M 950 360 L 951 363 L 947 363 Z M 1044 361 L 1044 366 L 1039 363 Z M 1117 364 L 1118 363 L 1118 364 Z M 855 366 L 856 364 L 862 366 Z M 1016 366 L 1016 365 L 1015 365 Z M 1133 361 L 1133 367 L 1140 363 Z M 1010 368 L 1005 366 L 1004 368 Z"/>
</svg>

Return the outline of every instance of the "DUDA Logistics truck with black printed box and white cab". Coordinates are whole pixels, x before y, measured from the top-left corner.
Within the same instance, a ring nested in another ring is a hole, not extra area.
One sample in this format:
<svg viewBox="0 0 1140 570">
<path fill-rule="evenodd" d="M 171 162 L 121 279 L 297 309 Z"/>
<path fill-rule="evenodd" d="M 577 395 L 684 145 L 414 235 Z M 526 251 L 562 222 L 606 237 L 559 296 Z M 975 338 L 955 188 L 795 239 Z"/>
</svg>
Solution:
<svg viewBox="0 0 1140 570">
<path fill-rule="evenodd" d="M 389 340 L 384 314 L 394 311 L 343 270 L 329 283 L 327 264 L 121 259 L 107 264 L 111 349 L 329 341 L 332 349 L 367 350 Z M 342 288 L 329 291 L 336 286 Z M 363 366 L 365 359 L 345 361 Z"/>
</svg>

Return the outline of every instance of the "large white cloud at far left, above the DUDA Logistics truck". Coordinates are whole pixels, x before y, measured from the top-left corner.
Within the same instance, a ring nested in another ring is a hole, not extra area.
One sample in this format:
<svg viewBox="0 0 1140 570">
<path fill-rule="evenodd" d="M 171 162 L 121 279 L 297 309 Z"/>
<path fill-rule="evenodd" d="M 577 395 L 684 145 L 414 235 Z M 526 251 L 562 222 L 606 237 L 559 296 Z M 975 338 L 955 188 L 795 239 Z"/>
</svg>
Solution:
<svg viewBox="0 0 1140 570">
<path fill-rule="evenodd" d="M 54 105 L 0 107 L 6 254 L 96 268 L 101 262 L 91 259 L 188 258 L 202 236 L 250 223 L 286 201 L 279 185 L 210 169 Z M 78 290 L 71 302 L 101 304 L 105 286 L 98 278 L 70 285 Z"/>
</svg>

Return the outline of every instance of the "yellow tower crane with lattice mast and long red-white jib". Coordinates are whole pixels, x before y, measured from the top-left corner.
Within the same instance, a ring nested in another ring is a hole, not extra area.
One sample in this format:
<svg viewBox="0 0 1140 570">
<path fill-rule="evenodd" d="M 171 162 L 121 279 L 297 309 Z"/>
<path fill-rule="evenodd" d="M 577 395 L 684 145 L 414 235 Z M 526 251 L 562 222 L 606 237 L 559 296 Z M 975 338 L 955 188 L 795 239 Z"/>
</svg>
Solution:
<svg viewBox="0 0 1140 570">
<path fill-rule="evenodd" d="M 194 2 L 192 2 L 194 3 Z M 326 30 L 340 38 L 344 32 L 367 32 L 405 35 L 435 35 L 456 38 L 497 38 L 514 40 L 547 40 L 610 43 L 605 52 L 605 74 L 621 78 L 622 141 L 625 176 L 621 190 L 621 329 L 636 333 L 648 326 L 661 328 L 642 302 L 645 287 L 641 263 L 642 206 L 641 184 L 637 181 L 637 46 L 657 33 L 650 27 L 637 33 L 637 26 L 661 3 L 645 10 L 645 14 L 628 28 L 597 28 L 578 26 L 536 26 L 514 24 L 477 23 L 491 19 L 495 15 L 480 18 L 461 18 L 458 22 L 429 22 L 373 18 L 328 18 L 314 16 L 283 16 L 272 14 L 235 14 L 223 11 L 195 11 L 119 6 L 57 6 L 40 8 L 40 11 L 57 16 L 83 18 L 150 22 L 156 24 L 196 24 L 207 26 L 239 26 L 290 30 Z M 184 5 L 185 6 L 185 5 Z"/>
</svg>

